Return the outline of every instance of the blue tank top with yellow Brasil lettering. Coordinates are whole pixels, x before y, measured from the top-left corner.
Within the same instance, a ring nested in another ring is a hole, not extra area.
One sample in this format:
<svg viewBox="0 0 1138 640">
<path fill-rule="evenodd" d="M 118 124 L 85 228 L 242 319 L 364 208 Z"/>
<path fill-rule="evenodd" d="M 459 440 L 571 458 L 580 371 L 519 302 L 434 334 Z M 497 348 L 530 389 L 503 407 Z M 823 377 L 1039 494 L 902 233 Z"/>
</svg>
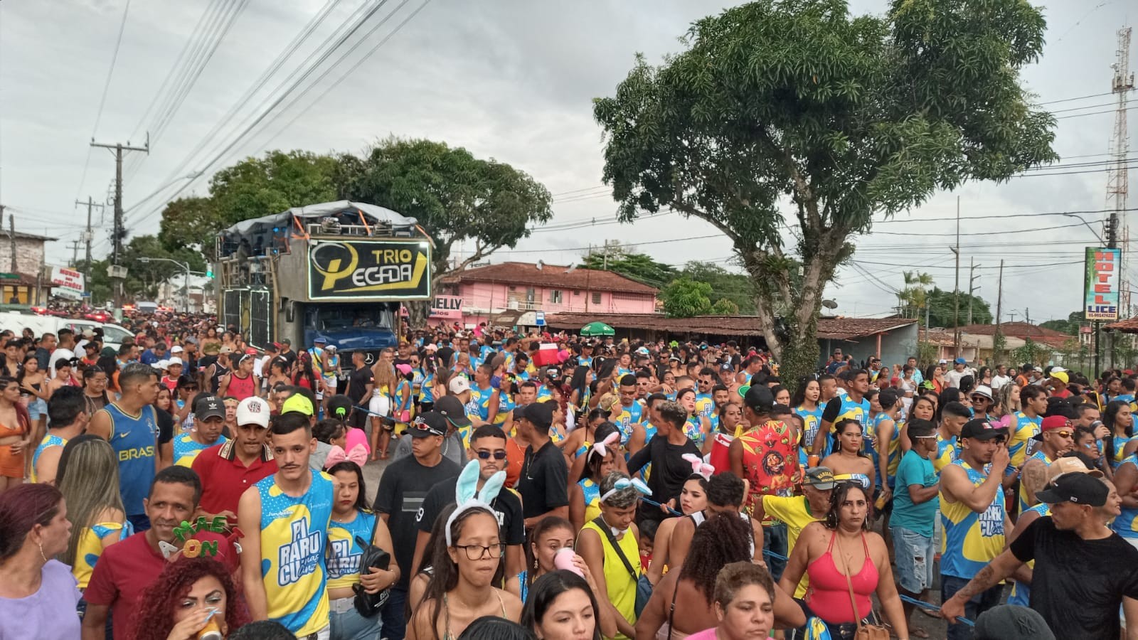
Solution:
<svg viewBox="0 0 1138 640">
<path fill-rule="evenodd" d="M 158 442 L 158 422 L 154 405 L 147 404 L 138 416 L 129 416 L 112 402 L 102 408 L 110 415 L 110 446 L 118 457 L 118 487 L 127 516 L 146 512 L 142 499 L 154 482 L 154 451 Z"/>
</svg>

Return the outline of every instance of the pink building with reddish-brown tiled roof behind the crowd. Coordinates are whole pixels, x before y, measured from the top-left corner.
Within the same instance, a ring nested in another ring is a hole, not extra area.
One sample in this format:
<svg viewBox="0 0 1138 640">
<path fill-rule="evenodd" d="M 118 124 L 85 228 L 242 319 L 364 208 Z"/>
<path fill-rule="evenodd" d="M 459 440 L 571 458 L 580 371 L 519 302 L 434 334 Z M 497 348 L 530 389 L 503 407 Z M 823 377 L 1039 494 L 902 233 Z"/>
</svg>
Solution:
<svg viewBox="0 0 1138 640">
<path fill-rule="evenodd" d="M 504 262 L 467 269 L 443 281 L 439 297 L 457 313 L 432 315 L 432 320 L 535 326 L 545 314 L 653 313 L 657 289 L 611 271 L 576 269 L 525 262 Z M 459 300 L 461 298 L 461 301 Z"/>
</svg>

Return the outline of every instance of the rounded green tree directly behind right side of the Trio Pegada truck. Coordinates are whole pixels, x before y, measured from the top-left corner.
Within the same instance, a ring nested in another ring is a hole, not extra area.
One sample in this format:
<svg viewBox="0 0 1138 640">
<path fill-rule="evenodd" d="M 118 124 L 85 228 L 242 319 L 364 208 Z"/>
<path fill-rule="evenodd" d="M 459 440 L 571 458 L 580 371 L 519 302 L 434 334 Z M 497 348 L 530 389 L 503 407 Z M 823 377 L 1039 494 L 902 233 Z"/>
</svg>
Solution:
<svg viewBox="0 0 1138 640">
<path fill-rule="evenodd" d="M 435 241 L 432 290 L 448 273 L 485 260 L 547 222 L 551 196 L 529 174 L 461 147 L 431 140 L 389 138 L 372 147 L 344 184 L 353 200 L 415 218 Z M 469 240 L 461 260 L 456 243 Z M 424 305 L 412 305 L 424 317 Z"/>
</svg>

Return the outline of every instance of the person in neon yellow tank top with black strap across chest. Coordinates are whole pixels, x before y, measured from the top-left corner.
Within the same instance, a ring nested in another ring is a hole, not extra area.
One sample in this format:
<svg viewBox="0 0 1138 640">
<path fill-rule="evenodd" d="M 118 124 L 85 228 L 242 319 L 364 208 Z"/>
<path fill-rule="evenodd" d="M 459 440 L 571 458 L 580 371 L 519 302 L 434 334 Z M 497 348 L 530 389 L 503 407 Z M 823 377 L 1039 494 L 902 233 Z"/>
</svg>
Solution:
<svg viewBox="0 0 1138 640">
<path fill-rule="evenodd" d="M 596 599 L 611 607 L 617 640 L 636 637 L 636 582 L 640 580 L 640 530 L 633 524 L 640 490 L 628 475 L 611 471 L 601 481 L 601 515 L 577 535 L 577 552 L 597 580 Z"/>
</svg>

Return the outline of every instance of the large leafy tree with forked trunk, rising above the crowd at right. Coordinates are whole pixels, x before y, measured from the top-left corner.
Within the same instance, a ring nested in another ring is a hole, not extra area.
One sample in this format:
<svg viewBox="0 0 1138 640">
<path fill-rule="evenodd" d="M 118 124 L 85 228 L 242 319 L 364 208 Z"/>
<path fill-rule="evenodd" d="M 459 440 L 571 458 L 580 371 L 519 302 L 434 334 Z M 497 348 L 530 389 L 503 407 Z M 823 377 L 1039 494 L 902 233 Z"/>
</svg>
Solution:
<svg viewBox="0 0 1138 640">
<path fill-rule="evenodd" d="M 1044 43 L 1023 0 L 762 0 L 698 20 L 594 104 L 618 215 L 710 222 L 750 274 L 784 378 L 811 370 L 822 292 L 874 215 L 1056 159 L 1020 69 Z M 783 246 L 786 213 L 797 246 Z M 791 279 L 801 261 L 801 284 Z M 782 317 L 785 331 L 776 331 Z"/>
</svg>

